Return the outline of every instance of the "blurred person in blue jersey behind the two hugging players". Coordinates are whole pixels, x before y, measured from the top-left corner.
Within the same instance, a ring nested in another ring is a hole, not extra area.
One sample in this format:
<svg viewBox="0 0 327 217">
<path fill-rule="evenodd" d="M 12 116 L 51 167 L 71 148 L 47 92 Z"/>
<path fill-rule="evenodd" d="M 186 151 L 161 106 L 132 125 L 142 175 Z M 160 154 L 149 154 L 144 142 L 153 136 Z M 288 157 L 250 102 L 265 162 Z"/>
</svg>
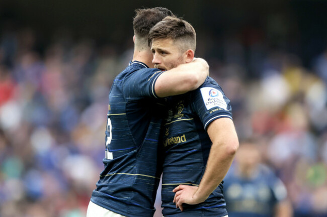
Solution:
<svg viewBox="0 0 327 217">
<path fill-rule="evenodd" d="M 282 181 L 261 164 L 257 144 L 241 143 L 235 162 L 224 179 L 224 196 L 230 217 L 290 217 L 291 203 Z"/>
</svg>

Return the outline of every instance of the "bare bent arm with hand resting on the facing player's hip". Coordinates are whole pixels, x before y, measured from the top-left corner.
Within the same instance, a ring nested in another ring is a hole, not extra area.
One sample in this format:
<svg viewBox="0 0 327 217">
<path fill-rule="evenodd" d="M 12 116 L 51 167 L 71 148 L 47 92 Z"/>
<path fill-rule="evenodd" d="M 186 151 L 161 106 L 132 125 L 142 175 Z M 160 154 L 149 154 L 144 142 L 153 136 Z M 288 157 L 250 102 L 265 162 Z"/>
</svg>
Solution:
<svg viewBox="0 0 327 217">
<path fill-rule="evenodd" d="M 208 126 L 207 133 L 212 141 L 206 171 L 199 187 L 179 185 L 174 188 L 174 202 L 183 211 L 183 203 L 198 204 L 205 201 L 225 177 L 236 150 L 238 138 L 231 119 L 220 118 Z"/>
</svg>

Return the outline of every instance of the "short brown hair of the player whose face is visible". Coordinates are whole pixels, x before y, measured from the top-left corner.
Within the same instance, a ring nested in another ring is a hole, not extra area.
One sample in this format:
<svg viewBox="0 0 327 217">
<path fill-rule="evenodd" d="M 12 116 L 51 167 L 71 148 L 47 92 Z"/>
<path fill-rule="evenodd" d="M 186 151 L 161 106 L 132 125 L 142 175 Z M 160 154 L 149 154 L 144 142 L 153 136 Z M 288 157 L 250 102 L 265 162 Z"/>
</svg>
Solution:
<svg viewBox="0 0 327 217">
<path fill-rule="evenodd" d="M 157 23 L 148 34 L 148 43 L 153 39 L 173 39 L 184 52 L 188 49 L 195 51 L 196 33 L 192 25 L 180 18 L 166 17 Z"/>
</svg>

